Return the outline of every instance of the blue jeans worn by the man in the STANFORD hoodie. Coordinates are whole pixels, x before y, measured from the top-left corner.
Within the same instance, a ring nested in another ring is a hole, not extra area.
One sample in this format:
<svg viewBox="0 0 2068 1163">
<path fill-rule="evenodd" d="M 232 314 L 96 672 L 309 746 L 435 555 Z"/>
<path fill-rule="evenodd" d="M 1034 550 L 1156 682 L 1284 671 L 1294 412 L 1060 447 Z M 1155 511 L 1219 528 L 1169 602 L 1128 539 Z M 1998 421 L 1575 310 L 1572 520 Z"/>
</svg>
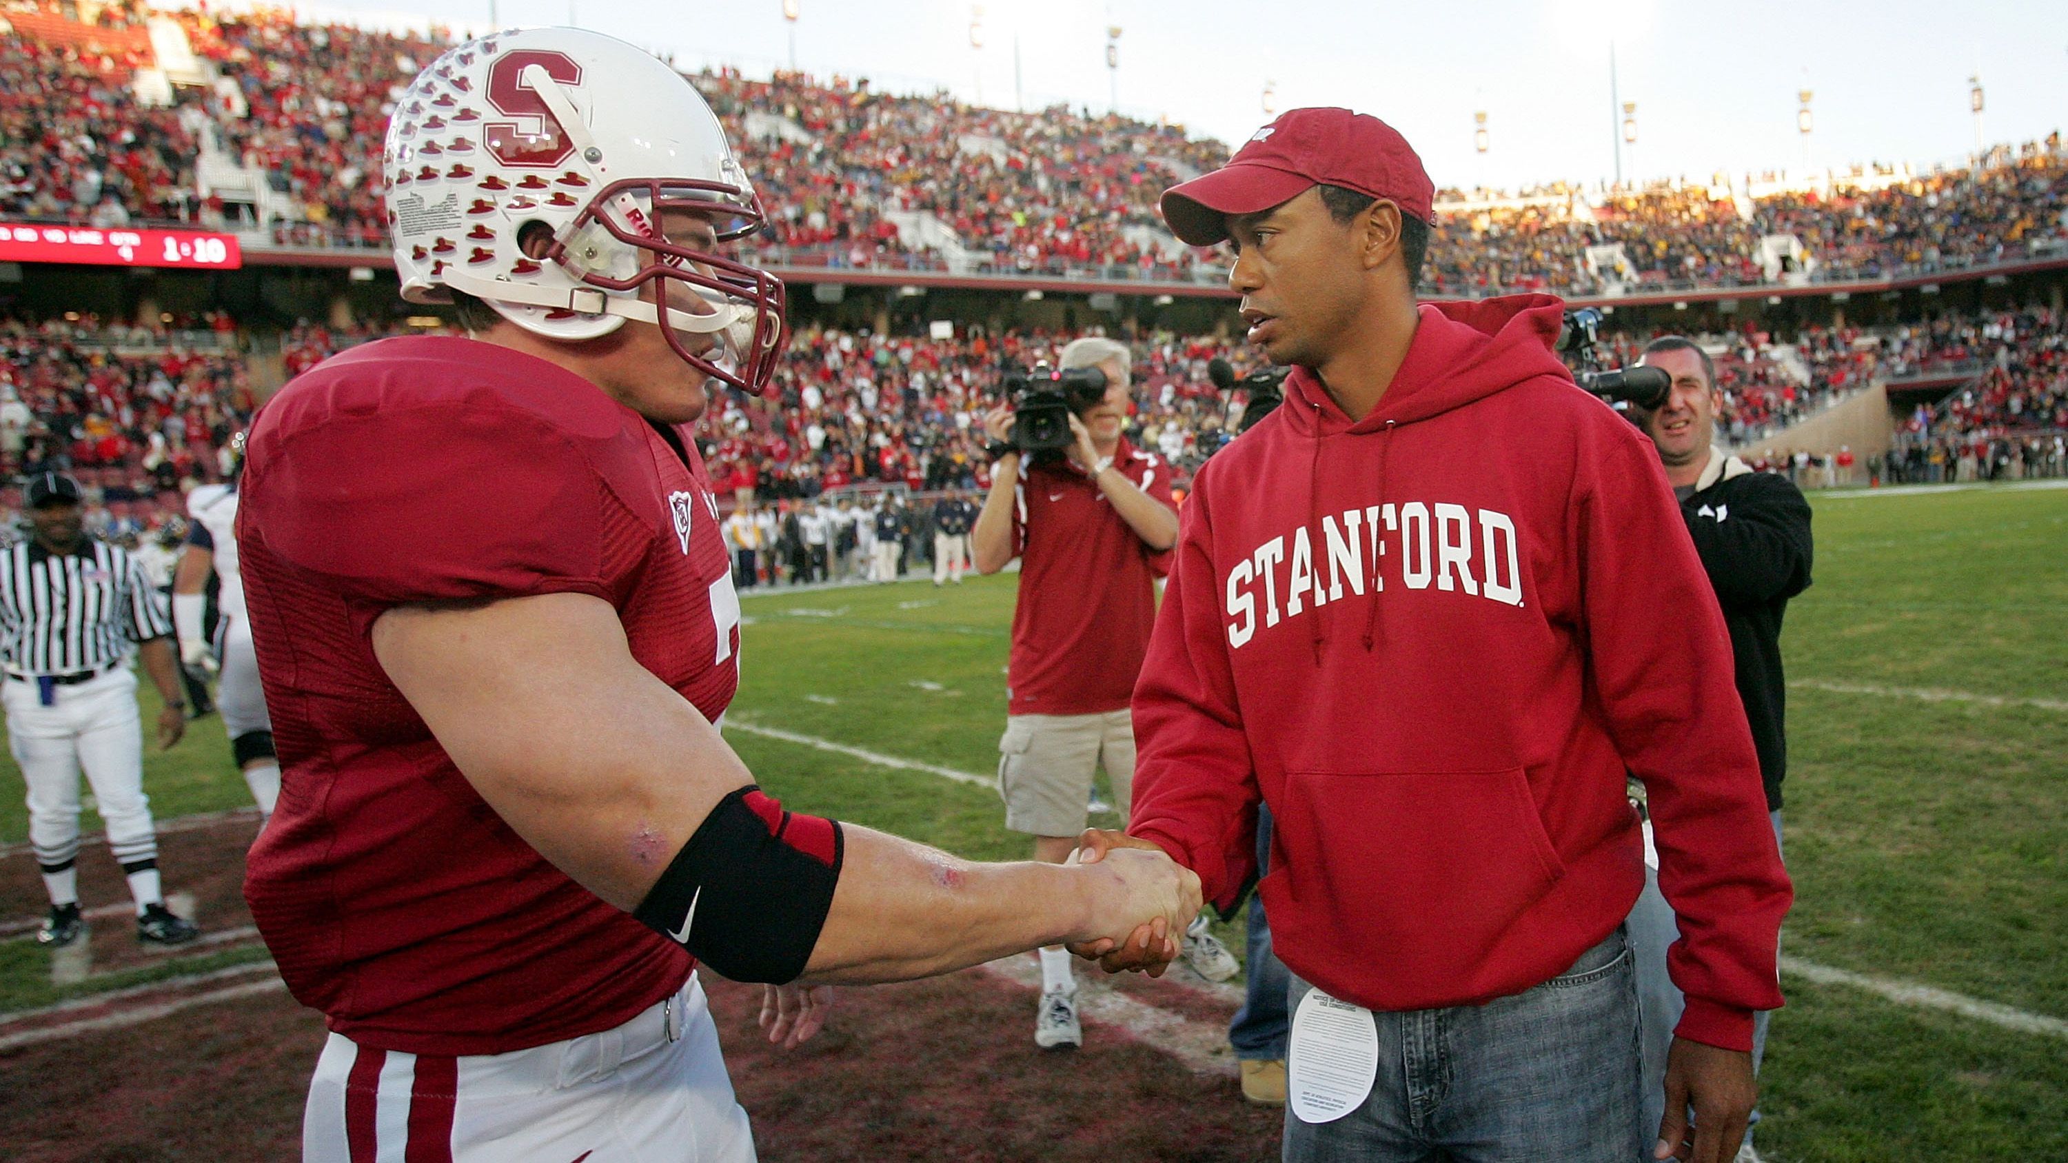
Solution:
<svg viewBox="0 0 2068 1163">
<path fill-rule="evenodd" d="M 1292 979 L 1295 1008 L 1309 989 Z M 1650 1142 L 1638 1124 L 1638 989 L 1621 929 L 1512 997 L 1373 1018 L 1371 1097 L 1326 1124 L 1288 1109 L 1286 1163 L 1630 1163 Z"/>
</svg>

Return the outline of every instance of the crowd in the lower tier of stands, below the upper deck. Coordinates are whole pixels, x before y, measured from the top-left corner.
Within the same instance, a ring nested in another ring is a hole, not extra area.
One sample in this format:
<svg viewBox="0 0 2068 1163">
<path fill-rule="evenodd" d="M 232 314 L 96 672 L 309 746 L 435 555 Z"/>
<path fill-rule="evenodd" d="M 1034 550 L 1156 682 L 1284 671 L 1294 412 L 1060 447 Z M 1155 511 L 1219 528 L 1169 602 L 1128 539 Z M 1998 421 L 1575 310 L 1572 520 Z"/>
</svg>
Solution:
<svg viewBox="0 0 2068 1163">
<path fill-rule="evenodd" d="M 294 327 L 277 337 L 283 377 L 300 375 L 374 329 Z M 776 377 L 776 397 L 720 395 L 699 428 L 718 493 L 780 519 L 782 503 L 989 486 L 982 414 L 1003 393 L 1003 368 L 1053 360 L 1067 335 L 953 339 L 804 327 Z M 1642 337 L 1611 337 L 1605 358 L 1628 364 Z M 1702 337 L 1723 391 L 1719 437 L 1762 439 L 1882 377 L 1956 370 L 1973 383 L 1900 424 L 1886 464 L 1859 472 L 1890 482 L 1989 480 L 2064 472 L 2068 327 L 2047 308 L 1950 315 L 1888 331 L 1805 327 L 1793 337 L 1747 325 Z M 0 323 L 0 470 L 8 478 L 64 468 L 97 488 L 103 528 L 155 526 L 178 497 L 230 468 L 230 437 L 248 420 L 250 339 L 221 312 L 151 325 Z M 1173 466 L 1177 480 L 1235 430 L 1241 397 L 1208 379 L 1208 362 L 1243 364 L 1212 335 L 1133 335 L 1135 414 L 1129 439 Z M 1830 466 L 1824 457 L 1834 457 Z M 1851 453 L 1783 457 L 1803 484 L 1853 476 Z M 1799 464 L 1797 464 L 1799 461 Z M 926 557 L 926 507 L 912 553 Z M 866 555 L 864 555 L 866 557 Z"/>
</svg>

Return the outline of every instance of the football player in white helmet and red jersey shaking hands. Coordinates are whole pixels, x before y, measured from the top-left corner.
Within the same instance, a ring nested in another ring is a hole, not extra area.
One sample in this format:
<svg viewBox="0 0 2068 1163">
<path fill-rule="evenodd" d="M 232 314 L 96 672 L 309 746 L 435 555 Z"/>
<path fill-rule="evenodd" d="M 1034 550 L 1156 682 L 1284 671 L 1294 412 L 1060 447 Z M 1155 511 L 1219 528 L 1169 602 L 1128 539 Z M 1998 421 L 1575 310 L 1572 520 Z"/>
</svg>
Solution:
<svg viewBox="0 0 2068 1163">
<path fill-rule="evenodd" d="M 1160 853 L 966 863 L 784 809 L 713 728 L 738 602 L 685 424 L 765 387 L 782 286 L 720 257 L 761 205 L 682 77 L 469 41 L 383 178 L 403 296 L 469 337 L 287 385 L 238 517 L 283 774 L 246 896 L 331 1028 L 308 1159 L 753 1159 L 699 960 L 794 1043 L 831 981 L 1177 954 L 1199 892 Z"/>
</svg>

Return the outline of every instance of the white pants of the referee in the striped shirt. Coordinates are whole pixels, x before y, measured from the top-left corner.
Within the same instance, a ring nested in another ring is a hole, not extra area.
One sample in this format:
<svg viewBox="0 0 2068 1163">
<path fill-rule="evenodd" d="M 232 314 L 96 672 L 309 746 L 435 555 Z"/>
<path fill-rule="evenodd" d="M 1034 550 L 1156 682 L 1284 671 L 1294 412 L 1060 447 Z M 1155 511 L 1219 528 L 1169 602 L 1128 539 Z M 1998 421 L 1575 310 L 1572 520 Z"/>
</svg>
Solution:
<svg viewBox="0 0 2068 1163">
<path fill-rule="evenodd" d="M 136 673 L 128 666 L 56 687 L 56 704 L 37 699 L 33 681 L 6 679 L 6 743 L 29 784 L 29 846 L 41 865 L 79 857 L 79 770 L 108 824 L 116 863 L 157 859 L 151 797 L 143 795 L 143 722 Z"/>
</svg>

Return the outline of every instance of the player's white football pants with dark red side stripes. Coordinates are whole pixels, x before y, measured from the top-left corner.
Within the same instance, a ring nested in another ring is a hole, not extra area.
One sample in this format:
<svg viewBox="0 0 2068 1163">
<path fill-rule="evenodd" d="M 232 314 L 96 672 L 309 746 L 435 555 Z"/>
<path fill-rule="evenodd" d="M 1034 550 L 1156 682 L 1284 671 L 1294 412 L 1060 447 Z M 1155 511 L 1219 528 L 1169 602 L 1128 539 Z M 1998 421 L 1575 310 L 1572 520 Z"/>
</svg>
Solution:
<svg viewBox="0 0 2068 1163">
<path fill-rule="evenodd" d="M 513 1053 L 381 1051 L 333 1033 L 308 1086 L 302 1159 L 755 1163 L 755 1136 L 691 975 L 618 1028 Z"/>
</svg>

